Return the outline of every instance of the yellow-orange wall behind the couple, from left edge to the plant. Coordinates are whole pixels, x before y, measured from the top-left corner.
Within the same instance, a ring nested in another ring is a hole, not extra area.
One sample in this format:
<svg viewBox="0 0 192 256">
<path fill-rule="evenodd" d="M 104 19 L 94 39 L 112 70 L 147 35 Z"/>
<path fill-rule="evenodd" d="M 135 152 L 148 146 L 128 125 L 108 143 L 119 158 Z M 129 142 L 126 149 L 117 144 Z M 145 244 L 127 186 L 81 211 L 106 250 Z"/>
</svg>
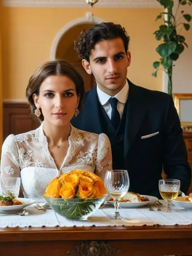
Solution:
<svg viewBox="0 0 192 256">
<path fill-rule="evenodd" d="M 40 63 L 50 59 L 57 33 L 72 20 L 85 17 L 89 8 L 3 7 L 4 99 L 25 99 L 27 82 Z M 160 9 L 93 8 L 94 16 L 124 26 L 131 36 L 132 63 L 128 77 L 136 84 L 162 90 L 162 77 L 152 77 L 158 42 L 153 32 Z"/>
</svg>

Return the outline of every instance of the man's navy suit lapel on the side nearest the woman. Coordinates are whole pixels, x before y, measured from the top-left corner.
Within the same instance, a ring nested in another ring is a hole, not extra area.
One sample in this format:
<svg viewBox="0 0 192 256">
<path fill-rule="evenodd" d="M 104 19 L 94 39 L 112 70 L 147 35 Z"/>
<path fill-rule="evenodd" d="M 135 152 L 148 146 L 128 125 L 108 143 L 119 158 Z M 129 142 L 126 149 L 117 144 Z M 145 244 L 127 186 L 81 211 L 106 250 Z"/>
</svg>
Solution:
<svg viewBox="0 0 192 256">
<path fill-rule="evenodd" d="M 87 131 L 91 131 L 93 133 L 100 134 L 102 133 L 101 129 L 101 118 L 102 113 L 100 113 L 100 102 L 97 96 L 97 87 L 94 87 L 87 96 L 86 103 L 84 104 L 83 112 L 86 113 L 86 129 Z"/>
</svg>

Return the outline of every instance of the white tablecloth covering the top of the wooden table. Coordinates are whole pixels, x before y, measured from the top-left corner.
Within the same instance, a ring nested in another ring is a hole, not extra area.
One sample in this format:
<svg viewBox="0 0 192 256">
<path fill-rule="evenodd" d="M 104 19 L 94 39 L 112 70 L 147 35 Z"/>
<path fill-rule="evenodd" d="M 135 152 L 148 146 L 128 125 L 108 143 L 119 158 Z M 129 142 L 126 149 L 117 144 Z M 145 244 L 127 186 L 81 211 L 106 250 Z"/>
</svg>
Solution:
<svg viewBox="0 0 192 256">
<path fill-rule="evenodd" d="M 163 200 L 161 200 L 163 202 Z M 155 209 L 155 207 L 153 207 Z M 189 225 L 192 224 L 192 211 L 185 210 L 173 205 L 175 212 L 150 211 L 148 207 L 143 208 L 121 208 L 121 216 L 126 217 L 124 221 L 113 221 L 108 219 L 114 214 L 113 206 L 104 206 L 98 209 L 87 221 L 73 221 L 55 213 L 53 210 L 37 210 L 33 206 L 25 208 L 29 216 L 17 216 L 0 214 L 0 227 L 82 227 L 82 226 L 142 226 L 142 225 Z M 163 208 L 162 208 L 163 209 Z"/>
</svg>

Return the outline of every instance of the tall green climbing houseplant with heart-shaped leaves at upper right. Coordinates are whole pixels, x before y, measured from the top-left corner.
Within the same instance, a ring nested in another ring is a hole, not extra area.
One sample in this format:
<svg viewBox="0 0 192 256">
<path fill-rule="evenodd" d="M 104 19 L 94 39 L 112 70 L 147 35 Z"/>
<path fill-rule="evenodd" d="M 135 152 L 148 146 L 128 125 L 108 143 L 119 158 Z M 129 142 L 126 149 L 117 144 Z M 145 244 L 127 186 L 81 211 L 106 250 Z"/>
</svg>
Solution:
<svg viewBox="0 0 192 256">
<path fill-rule="evenodd" d="M 157 77 L 158 70 L 162 69 L 168 77 L 168 94 L 172 94 L 172 71 L 174 61 L 179 58 L 185 47 L 188 47 L 185 42 L 185 37 L 181 35 L 182 29 L 188 31 L 190 29 L 191 15 L 184 13 L 182 6 L 191 5 L 192 0 L 157 0 L 163 7 L 164 11 L 157 17 L 163 19 L 164 24 L 159 26 L 159 29 L 154 32 L 157 40 L 161 44 L 156 48 L 160 58 L 153 63 L 156 69 L 152 73 Z M 174 5 L 177 5 L 176 12 L 173 14 Z"/>
</svg>

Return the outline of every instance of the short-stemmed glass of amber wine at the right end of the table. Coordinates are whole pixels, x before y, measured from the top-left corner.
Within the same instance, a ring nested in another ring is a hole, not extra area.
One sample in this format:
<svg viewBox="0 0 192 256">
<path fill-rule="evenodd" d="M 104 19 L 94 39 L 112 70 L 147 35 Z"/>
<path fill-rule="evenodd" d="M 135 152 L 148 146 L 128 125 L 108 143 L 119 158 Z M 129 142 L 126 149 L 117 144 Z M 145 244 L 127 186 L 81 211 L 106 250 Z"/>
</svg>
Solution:
<svg viewBox="0 0 192 256">
<path fill-rule="evenodd" d="M 165 211 L 172 210 L 172 200 L 176 199 L 179 195 L 180 180 L 175 179 L 162 179 L 159 180 L 159 191 L 161 197 L 167 201 Z"/>
</svg>

